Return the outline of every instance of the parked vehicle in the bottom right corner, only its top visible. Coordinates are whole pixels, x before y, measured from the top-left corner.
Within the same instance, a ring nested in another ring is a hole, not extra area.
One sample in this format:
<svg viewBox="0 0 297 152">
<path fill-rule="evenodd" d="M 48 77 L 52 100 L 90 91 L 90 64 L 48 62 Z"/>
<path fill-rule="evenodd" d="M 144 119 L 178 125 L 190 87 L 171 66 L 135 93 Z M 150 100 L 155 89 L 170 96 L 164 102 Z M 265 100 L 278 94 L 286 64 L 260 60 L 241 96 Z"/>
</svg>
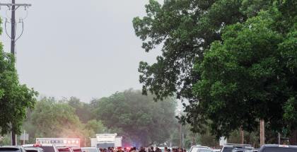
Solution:
<svg viewBox="0 0 297 152">
<path fill-rule="evenodd" d="M 263 145 L 258 152 L 296 152 L 297 146 L 289 145 Z"/>
</svg>

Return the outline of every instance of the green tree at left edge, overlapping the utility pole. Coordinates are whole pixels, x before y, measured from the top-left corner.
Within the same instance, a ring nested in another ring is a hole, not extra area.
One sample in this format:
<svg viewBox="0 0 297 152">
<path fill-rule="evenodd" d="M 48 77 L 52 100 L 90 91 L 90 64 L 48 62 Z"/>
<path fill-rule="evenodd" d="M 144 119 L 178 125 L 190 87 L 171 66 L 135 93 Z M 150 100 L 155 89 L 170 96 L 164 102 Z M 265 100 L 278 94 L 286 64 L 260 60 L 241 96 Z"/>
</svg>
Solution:
<svg viewBox="0 0 297 152">
<path fill-rule="evenodd" d="M 15 59 L 0 44 L 0 134 L 20 133 L 26 109 L 34 107 L 36 95 L 37 92 L 18 81 Z"/>
</svg>

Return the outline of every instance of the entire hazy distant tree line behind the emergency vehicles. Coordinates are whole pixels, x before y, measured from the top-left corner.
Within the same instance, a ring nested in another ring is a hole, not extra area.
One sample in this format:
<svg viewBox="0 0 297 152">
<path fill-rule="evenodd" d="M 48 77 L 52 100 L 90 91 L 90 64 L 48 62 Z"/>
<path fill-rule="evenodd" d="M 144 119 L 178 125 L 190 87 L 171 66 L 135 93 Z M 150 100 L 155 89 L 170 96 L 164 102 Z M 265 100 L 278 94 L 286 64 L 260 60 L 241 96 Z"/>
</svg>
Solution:
<svg viewBox="0 0 297 152">
<path fill-rule="evenodd" d="M 175 108 L 173 98 L 156 103 L 153 95 L 132 89 L 90 103 L 44 97 L 27 110 L 22 130 L 30 135 L 30 143 L 36 137 L 78 137 L 82 146 L 89 146 L 95 134 L 117 133 L 127 146 L 163 144 L 177 129 Z"/>
</svg>

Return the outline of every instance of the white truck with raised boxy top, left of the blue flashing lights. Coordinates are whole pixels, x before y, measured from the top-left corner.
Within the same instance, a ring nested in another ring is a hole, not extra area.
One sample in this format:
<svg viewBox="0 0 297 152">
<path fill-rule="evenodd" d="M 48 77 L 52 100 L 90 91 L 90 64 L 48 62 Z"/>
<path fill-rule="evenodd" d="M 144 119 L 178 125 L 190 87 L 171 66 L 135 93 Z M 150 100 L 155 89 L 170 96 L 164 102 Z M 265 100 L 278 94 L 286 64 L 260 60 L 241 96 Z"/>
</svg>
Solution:
<svg viewBox="0 0 297 152">
<path fill-rule="evenodd" d="M 117 136 L 117 134 L 96 134 L 96 138 L 91 138 L 91 146 L 97 148 L 122 147 L 122 136 Z"/>
</svg>

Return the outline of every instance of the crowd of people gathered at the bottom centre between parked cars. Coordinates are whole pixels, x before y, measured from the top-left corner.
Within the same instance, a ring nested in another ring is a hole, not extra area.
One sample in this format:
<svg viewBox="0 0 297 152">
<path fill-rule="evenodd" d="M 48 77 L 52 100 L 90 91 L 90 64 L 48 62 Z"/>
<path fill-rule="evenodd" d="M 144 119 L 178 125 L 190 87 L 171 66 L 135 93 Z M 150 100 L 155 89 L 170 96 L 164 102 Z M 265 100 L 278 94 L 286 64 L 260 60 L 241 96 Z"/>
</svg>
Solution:
<svg viewBox="0 0 297 152">
<path fill-rule="evenodd" d="M 100 148 L 100 152 L 187 152 L 186 149 L 183 148 L 168 148 L 165 147 L 162 151 L 161 148 L 158 147 L 129 147 L 129 148 L 113 148 L 113 147 L 108 147 L 108 148 Z"/>
</svg>

